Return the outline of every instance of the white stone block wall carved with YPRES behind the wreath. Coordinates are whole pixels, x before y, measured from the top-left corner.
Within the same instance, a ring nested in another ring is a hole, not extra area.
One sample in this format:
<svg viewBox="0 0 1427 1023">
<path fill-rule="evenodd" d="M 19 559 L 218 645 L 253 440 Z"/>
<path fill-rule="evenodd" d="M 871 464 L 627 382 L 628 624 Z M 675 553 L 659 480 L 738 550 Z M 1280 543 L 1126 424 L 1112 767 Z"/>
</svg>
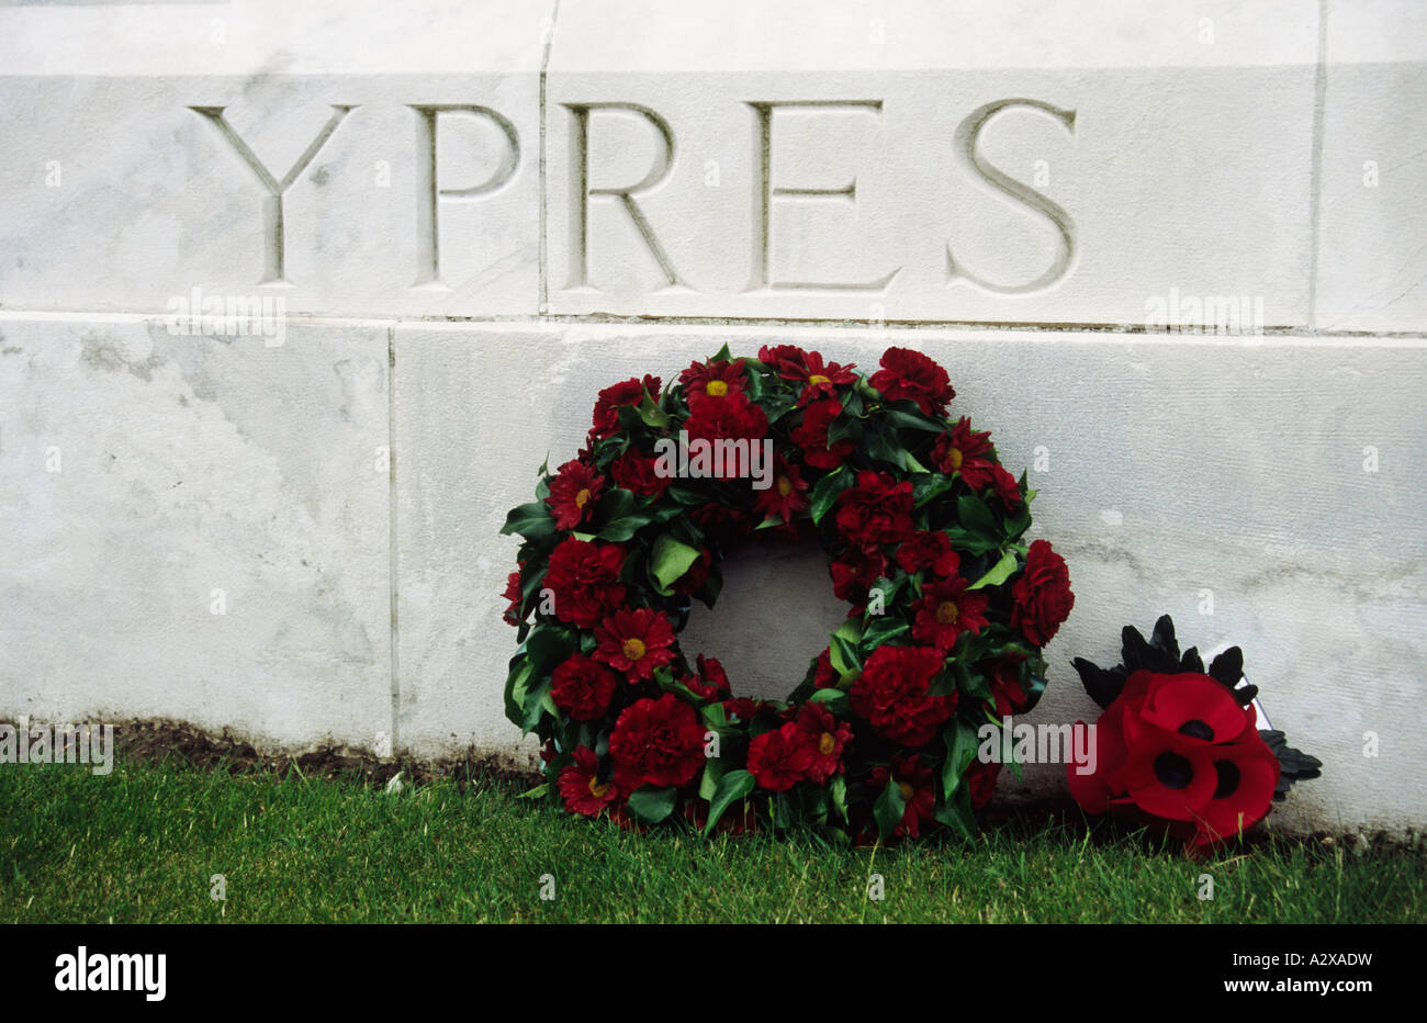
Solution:
<svg viewBox="0 0 1427 1023">
<path fill-rule="evenodd" d="M 528 758 L 497 534 L 596 391 L 898 344 L 1069 561 L 1037 719 L 1170 612 L 1324 759 L 1287 820 L 1421 825 L 1424 11 L 4 7 L 0 719 Z M 842 608 L 728 568 L 684 642 L 781 695 Z"/>
</svg>

